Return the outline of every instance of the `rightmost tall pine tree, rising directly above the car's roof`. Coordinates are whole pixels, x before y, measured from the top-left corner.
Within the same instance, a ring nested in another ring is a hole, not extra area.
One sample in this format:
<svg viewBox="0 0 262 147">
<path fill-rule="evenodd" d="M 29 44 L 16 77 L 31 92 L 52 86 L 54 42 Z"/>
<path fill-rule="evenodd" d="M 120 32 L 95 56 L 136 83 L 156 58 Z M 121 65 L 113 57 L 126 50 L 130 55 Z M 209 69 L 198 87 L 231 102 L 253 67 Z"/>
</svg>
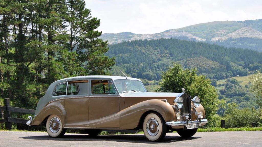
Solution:
<svg viewBox="0 0 262 147">
<path fill-rule="evenodd" d="M 64 69 L 70 75 L 103 75 L 105 70 L 114 65 L 114 58 L 104 54 L 108 51 L 107 42 L 98 37 L 96 31 L 100 19 L 91 17 L 91 10 L 86 9 L 84 0 L 68 0 L 65 21 L 69 26 L 68 47 L 64 52 Z"/>
</svg>

